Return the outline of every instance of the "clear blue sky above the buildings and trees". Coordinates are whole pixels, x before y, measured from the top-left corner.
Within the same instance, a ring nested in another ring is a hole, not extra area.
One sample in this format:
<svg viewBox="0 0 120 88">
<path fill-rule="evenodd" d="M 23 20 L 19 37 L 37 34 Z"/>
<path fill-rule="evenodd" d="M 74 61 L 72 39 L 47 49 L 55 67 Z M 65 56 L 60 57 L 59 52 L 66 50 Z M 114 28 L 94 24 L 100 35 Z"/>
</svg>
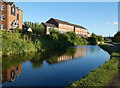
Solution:
<svg viewBox="0 0 120 88">
<path fill-rule="evenodd" d="M 23 21 L 46 22 L 56 18 L 81 25 L 90 33 L 113 36 L 118 31 L 117 2 L 15 2 Z"/>
</svg>

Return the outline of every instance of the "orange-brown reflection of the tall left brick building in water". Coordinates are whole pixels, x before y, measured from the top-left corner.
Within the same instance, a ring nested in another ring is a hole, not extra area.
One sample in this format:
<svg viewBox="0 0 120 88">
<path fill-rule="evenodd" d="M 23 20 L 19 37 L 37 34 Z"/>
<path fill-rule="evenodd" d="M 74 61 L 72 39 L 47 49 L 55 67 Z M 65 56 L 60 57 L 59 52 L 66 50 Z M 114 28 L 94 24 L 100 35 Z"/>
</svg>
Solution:
<svg viewBox="0 0 120 88">
<path fill-rule="evenodd" d="M 12 82 L 22 72 L 22 64 L 11 66 L 6 71 L 2 72 L 2 82 Z"/>
</svg>

